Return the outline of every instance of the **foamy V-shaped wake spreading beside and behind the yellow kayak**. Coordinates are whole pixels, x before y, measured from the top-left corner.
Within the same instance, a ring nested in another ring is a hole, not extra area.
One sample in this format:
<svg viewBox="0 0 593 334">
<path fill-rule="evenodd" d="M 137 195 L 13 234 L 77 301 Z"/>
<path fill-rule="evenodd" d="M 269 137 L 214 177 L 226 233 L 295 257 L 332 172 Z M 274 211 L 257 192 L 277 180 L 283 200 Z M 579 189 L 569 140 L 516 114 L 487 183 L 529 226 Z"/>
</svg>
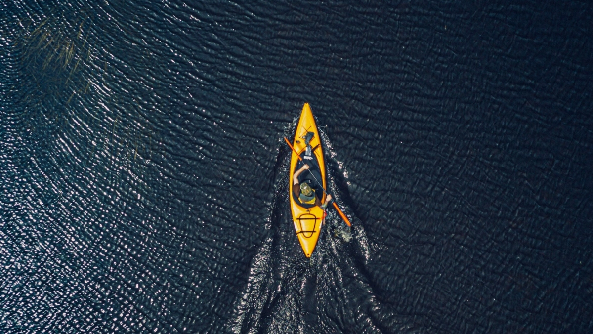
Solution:
<svg viewBox="0 0 593 334">
<path fill-rule="evenodd" d="M 292 138 L 296 122 L 285 136 Z M 320 131 L 326 155 L 327 190 L 352 222 L 352 230 L 328 208 L 328 216 L 310 259 L 302 252 L 288 197 L 291 149 L 279 140 L 274 169 L 275 198 L 266 221 L 268 231 L 251 260 L 247 284 L 234 303 L 229 330 L 234 333 L 389 332 L 377 323 L 374 284 L 365 269 L 371 244 L 349 203 L 346 173 Z M 355 292 L 355 294 L 352 294 Z M 361 300 L 363 300 L 361 302 Z M 369 304 L 370 303 L 370 304 Z"/>
</svg>

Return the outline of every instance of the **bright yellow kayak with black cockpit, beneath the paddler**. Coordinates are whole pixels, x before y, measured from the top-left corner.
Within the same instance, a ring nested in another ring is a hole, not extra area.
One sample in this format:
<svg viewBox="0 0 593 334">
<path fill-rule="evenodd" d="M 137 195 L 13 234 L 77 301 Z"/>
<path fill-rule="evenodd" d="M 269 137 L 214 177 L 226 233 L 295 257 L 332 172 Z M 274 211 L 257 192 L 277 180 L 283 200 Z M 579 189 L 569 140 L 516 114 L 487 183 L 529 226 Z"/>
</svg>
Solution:
<svg viewBox="0 0 593 334">
<path fill-rule="evenodd" d="M 297 131 L 292 143 L 291 168 L 289 177 L 289 197 L 291 201 L 292 220 L 294 221 L 295 231 L 303 252 L 306 257 L 311 257 L 317 239 L 323 227 L 325 219 L 325 210 L 318 205 L 302 203 L 297 196 L 294 195 L 292 176 L 295 171 L 302 167 L 304 163 L 308 164 L 309 170 L 301 173 L 299 179 L 301 182 L 308 182 L 313 187 L 317 198 L 320 202 L 324 202 L 326 195 L 326 164 L 323 160 L 323 148 L 321 147 L 321 140 L 313 112 L 308 103 L 302 107 L 301 118 L 298 121 Z M 297 152 L 299 157 L 297 156 Z M 323 189 L 321 189 L 323 187 Z"/>
</svg>

